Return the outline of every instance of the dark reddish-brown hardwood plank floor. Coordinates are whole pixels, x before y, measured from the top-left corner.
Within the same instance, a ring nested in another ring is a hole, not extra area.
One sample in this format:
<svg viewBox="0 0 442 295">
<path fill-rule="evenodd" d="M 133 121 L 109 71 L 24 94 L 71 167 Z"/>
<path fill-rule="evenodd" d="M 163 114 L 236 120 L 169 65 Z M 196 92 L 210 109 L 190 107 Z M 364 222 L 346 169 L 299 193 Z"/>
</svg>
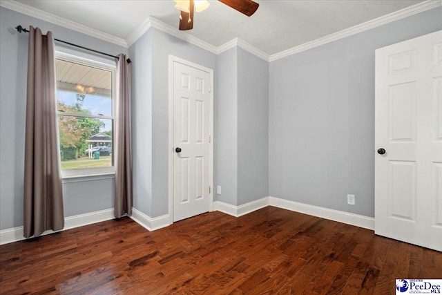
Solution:
<svg viewBox="0 0 442 295">
<path fill-rule="evenodd" d="M 1 294 L 394 294 L 442 253 L 266 207 L 149 232 L 129 218 L 0 246 Z"/>
</svg>

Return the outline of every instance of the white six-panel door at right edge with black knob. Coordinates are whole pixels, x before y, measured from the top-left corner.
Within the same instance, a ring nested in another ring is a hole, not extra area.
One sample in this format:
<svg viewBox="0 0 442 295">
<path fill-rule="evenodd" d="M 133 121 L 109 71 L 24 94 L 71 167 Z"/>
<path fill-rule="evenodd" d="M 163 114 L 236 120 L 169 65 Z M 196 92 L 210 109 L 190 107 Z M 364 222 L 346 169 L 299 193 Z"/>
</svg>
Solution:
<svg viewBox="0 0 442 295">
<path fill-rule="evenodd" d="M 376 50 L 375 123 L 375 233 L 442 251 L 442 31 Z"/>
</svg>

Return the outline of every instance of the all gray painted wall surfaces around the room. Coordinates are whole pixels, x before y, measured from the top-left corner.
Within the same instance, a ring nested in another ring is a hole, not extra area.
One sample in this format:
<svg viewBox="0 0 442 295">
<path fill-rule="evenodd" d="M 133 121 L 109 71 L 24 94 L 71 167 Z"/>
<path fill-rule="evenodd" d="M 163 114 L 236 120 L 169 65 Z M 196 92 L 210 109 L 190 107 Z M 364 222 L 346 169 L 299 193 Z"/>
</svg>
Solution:
<svg viewBox="0 0 442 295">
<path fill-rule="evenodd" d="M 13 29 L 18 24 L 128 53 L 0 8 L 0 229 L 23 225 L 28 39 Z M 238 205 L 270 195 L 374 216 L 374 50 L 441 29 L 436 8 L 268 65 L 240 48 L 217 57 L 151 28 L 129 50 L 134 207 L 151 217 L 169 210 L 168 58 L 175 55 L 215 73 L 214 184 L 222 185 L 215 200 Z M 113 206 L 112 178 L 78 180 L 63 185 L 65 216 Z M 347 193 L 356 195 L 356 206 L 346 204 Z"/>
</svg>

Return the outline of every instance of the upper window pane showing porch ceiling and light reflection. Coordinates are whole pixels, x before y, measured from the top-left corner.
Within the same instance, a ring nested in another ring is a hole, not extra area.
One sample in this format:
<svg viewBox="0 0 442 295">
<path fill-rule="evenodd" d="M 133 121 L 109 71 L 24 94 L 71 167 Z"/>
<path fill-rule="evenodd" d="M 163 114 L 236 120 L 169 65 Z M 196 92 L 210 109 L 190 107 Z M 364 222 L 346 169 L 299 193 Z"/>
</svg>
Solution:
<svg viewBox="0 0 442 295">
<path fill-rule="evenodd" d="M 110 70 L 61 59 L 56 59 L 55 66 L 59 111 L 112 115 L 112 72 Z"/>
</svg>

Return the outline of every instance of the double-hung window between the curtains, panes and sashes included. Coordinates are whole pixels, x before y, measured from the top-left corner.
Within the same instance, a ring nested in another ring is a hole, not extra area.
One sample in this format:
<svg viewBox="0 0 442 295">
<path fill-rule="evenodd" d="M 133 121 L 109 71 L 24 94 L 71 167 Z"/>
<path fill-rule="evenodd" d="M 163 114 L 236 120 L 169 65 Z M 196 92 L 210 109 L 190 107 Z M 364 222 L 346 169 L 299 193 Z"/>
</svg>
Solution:
<svg viewBox="0 0 442 295">
<path fill-rule="evenodd" d="M 57 53 L 55 68 L 62 175 L 113 173 L 115 66 Z"/>
</svg>

